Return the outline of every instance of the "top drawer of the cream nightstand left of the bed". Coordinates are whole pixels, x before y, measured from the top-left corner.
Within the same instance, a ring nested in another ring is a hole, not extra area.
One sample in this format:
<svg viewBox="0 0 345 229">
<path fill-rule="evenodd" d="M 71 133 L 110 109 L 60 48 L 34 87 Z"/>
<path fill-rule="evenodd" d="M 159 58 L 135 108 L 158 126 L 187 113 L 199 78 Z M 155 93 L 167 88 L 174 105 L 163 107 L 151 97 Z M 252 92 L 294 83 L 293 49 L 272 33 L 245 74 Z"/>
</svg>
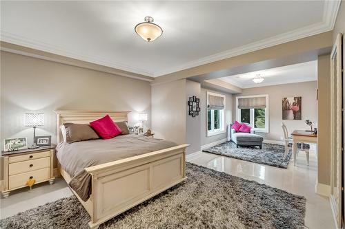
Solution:
<svg viewBox="0 0 345 229">
<path fill-rule="evenodd" d="M 35 160 L 28 160 L 24 162 L 11 163 L 8 166 L 8 174 L 14 175 L 19 173 L 25 173 L 34 171 L 40 168 L 46 168 L 50 166 L 50 157 L 43 157 Z"/>
</svg>

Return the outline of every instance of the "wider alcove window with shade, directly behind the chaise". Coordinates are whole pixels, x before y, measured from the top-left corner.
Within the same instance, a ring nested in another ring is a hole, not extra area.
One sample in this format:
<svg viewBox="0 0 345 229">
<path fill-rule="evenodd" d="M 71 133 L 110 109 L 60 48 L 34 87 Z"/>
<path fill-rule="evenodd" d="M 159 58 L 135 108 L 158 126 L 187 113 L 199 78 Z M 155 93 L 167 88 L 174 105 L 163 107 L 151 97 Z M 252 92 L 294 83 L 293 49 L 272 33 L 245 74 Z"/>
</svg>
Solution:
<svg viewBox="0 0 345 229">
<path fill-rule="evenodd" d="M 238 122 L 250 124 L 255 131 L 268 133 L 268 95 L 236 97 Z"/>
</svg>

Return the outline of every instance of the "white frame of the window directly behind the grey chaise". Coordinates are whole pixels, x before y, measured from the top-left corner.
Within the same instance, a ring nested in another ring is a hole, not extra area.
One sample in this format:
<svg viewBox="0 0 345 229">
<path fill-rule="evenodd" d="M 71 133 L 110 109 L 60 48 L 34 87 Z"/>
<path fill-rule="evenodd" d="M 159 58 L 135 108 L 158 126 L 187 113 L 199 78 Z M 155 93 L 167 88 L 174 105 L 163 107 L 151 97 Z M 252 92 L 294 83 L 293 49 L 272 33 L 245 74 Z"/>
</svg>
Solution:
<svg viewBox="0 0 345 229">
<path fill-rule="evenodd" d="M 250 109 L 250 127 L 257 132 L 269 133 L 270 130 L 270 109 L 269 109 L 269 100 L 268 94 L 264 95 L 255 95 L 255 96 L 236 96 L 236 120 L 241 122 L 241 109 L 238 108 L 239 98 L 256 98 L 256 97 L 265 97 L 266 98 L 266 108 L 265 108 L 265 128 L 255 128 L 254 127 L 254 109 Z"/>
</svg>

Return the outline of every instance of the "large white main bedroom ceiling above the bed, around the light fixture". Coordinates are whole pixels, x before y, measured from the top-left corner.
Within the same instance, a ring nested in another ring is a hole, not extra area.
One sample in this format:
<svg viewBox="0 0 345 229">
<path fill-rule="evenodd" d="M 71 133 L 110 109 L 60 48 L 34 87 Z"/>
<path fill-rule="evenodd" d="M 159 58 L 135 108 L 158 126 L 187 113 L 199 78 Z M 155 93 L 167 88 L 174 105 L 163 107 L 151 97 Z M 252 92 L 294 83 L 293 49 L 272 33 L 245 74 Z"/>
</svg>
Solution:
<svg viewBox="0 0 345 229">
<path fill-rule="evenodd" d="M 146 76 L 332 30 L 339 1 L 1 1 L 1 41 Z M 134 27 L 163 28 L 147 43 Z"/>
</svg>

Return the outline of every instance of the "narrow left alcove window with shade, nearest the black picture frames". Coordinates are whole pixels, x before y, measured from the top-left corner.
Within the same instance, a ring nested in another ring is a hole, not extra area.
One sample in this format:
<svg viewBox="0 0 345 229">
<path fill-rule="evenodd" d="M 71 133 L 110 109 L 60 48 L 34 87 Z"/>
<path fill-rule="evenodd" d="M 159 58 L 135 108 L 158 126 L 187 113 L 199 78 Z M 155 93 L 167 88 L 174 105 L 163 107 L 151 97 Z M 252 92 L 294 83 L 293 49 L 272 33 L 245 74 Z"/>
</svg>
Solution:
<svg viewBox="0 0 345 229">
<path fill-rule="evenodd" d="M 207 91 L 207 135 L 225 133 L 225 96 Z"/>
</svg>

